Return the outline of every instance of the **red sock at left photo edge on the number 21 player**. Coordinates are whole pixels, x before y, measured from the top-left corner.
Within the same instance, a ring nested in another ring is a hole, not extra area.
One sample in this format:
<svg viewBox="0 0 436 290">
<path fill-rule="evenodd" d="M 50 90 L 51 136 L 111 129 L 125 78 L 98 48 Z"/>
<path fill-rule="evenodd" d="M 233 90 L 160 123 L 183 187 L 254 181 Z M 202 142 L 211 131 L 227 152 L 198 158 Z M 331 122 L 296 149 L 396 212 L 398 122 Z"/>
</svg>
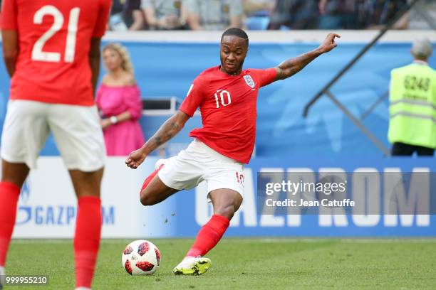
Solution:
<svg viewBox="0 0 436 290">
<path fill-rule="evenodd" d="M 6 264 L 6 254 L 14 232 L 16 205 L 20 188 L 11 182 L 0 182 L 0 266 Z"/>
</svg>

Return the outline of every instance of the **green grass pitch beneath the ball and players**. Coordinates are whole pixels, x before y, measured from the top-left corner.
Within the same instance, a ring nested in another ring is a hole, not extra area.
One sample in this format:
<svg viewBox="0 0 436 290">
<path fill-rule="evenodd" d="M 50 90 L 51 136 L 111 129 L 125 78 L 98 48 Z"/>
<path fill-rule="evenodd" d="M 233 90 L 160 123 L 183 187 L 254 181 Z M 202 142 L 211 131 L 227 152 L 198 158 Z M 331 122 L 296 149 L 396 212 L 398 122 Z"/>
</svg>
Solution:
<svg viewBox="0 0 436 290">
<path fill-rule="evenodd" d="M 436 240 L 226 238 L 202 276 L 175 276 L 192 239 L 151 240 L 162 253 L 152 276 L 130 276 L 121 253 L 131 240 L 103 240 L 93 289 L 436 289 Z M 7 274 L 46 274 L 48 286 L 73 289 L 71 240 L 14 240 Z"/>
</svg>

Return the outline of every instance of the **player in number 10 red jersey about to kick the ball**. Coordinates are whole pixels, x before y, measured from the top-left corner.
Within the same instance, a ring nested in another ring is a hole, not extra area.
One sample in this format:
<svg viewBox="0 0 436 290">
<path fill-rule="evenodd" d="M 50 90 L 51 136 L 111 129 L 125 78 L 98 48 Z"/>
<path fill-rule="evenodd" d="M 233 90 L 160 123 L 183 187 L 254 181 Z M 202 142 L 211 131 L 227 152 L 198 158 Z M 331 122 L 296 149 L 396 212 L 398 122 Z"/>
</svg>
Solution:
<svg viewBox="0 0 436 290">
<path fill-rule="evenodd" d="M 221 38 L 221 65 L 204 70 L 192 83 L 180 110 L 167 120 L 142 148 L 125 161 L 137 168 L 157 146 L 175 136 L 194 114 L 202 113 L 203 127 L 194 129 L 194 141 L 177 156 L 157 161 L 140 192 L 143 205 L 155 205 L 179 190 L 207 182 L 214 215 L 199 231 L 175 274 L 203 274 L 210 268 L 204 256 L 221 239 L 244 195 L 243 164 L 249 163 L 256 134 L 256 99 L 261 87 L 298 73 L 308 63 L 336 47 L 330 33 L 315 50 L 285 60 L 267 70 L 242 69 L 249 39 L 239 28 L 229 28 Z"/>
</svg>

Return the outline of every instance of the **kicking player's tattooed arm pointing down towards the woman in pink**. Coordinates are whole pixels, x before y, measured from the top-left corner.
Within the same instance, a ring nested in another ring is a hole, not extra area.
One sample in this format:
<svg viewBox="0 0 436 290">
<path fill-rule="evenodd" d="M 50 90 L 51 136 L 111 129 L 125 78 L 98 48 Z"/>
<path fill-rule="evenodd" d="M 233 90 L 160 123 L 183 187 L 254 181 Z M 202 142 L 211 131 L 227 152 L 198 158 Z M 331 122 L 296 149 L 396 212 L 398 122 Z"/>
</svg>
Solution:
<svg viewBox="0 0 436 290">
<path fill-rule="evenodd" d="M 140 148 L 130 153 L 125 161 L 128 167 L 136 169 L 145 160 L 148 154 L 166 141 L 170 140 L 182 130 L 190 116 L 185 112 L 178 111 L 170 119 L 162 124 L 157 132 Z"/>
</svg>

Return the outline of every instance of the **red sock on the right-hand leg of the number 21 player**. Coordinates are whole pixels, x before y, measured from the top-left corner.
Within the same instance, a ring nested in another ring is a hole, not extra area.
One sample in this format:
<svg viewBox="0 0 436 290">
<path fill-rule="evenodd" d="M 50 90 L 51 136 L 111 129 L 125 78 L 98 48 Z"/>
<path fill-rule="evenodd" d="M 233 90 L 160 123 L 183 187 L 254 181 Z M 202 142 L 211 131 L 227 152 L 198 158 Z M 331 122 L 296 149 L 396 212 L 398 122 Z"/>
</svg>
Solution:
<svg viewBox="0 0 436 290">
<path fill-rule="evenodd" d="M 101 201 L 96 196 L 78 199 L 74 260 L 76 262 L 76 287 L 90 288 L 97 262 L 101 234 Z"/>
</svg>

